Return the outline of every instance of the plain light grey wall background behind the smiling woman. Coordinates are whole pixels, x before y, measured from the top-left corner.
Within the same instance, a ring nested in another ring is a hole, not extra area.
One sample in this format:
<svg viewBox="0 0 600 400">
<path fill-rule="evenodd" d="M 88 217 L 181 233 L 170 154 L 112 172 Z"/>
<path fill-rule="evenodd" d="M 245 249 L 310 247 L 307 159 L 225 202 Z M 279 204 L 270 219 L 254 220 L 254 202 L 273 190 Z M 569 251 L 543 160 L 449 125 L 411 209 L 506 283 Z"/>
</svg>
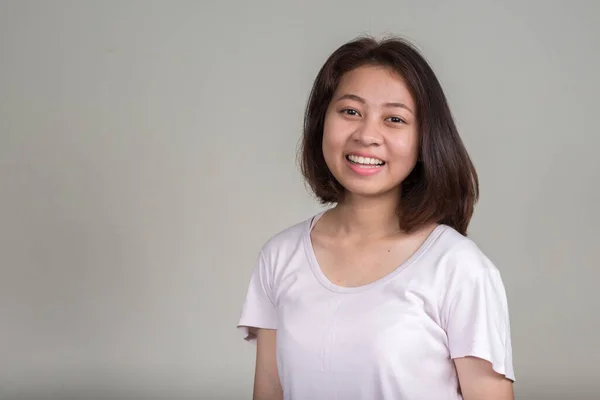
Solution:
<svg viewBox="0 0 600 400">
<path fill-rule="evenodd" d="M 415 41 L 481 179 L 517 398 L 600 398 L 600 2 L 1 1 L 0 398 L 250 398 L 325 58 Z"/>
</svg>

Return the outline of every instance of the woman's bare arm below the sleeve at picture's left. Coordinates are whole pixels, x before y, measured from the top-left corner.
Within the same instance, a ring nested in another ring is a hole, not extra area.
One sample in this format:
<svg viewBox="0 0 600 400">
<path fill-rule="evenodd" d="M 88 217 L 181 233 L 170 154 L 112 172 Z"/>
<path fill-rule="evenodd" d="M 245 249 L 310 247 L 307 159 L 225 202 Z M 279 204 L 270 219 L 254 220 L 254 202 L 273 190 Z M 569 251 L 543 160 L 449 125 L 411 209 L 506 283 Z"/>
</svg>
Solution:
<svg viewBox="0 0 600 400">
<path fill-rule="evenodd" d="M 277 373 L 275 329 L 256 330 L 256 369 L 254 373 L 254 400 L 281 400 L 283 390 Z"/>
</svg>

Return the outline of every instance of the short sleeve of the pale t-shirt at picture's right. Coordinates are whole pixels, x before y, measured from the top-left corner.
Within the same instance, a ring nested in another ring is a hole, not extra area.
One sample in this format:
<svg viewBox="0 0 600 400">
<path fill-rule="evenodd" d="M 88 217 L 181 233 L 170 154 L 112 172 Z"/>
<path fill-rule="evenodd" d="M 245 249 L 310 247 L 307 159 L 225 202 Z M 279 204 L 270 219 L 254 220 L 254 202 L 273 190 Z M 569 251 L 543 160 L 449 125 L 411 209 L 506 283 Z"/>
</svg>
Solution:
<svg viewBox="0 0 600 400">
<path fill-rule="evenodd" d="M 473 356 L 514 381 L 510 321 L 500 272 L 467 239 L 452 251 L 442 318 L 452 359 Z"/>
</svg>

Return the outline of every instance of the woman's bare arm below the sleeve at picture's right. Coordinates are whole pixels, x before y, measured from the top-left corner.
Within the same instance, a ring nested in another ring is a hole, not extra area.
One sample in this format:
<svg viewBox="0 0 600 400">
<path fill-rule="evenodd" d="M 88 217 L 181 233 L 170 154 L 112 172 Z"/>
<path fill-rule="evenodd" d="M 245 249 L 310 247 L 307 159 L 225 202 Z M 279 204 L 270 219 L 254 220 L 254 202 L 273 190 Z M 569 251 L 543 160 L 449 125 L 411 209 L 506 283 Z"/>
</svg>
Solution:
<svg viewBox="0 0 600 400">
<path fill-rule="evenodd" d="M 465 400 L 514 400 L 513 383 L 477 357 L 454 359 L 460 389 Z"/>
</svg>

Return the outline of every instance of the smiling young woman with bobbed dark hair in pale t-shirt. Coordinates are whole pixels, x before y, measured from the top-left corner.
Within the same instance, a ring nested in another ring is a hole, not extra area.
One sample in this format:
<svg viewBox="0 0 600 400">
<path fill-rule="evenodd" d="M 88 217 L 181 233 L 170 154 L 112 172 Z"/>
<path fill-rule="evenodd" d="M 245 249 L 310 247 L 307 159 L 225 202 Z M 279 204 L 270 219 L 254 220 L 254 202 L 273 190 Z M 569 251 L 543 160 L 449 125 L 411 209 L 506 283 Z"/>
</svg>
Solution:
<svg viewBox="0 0 600 400">
<path fill-rule="evenodd" d="M 329 57 L 301 167 L 334 206 L 260 251 L 238 324 L 258 344 L 254 399 L 513 399 L 502 279 L 466 237 L 477 174 L 412 45 Z"/>
</svg>

